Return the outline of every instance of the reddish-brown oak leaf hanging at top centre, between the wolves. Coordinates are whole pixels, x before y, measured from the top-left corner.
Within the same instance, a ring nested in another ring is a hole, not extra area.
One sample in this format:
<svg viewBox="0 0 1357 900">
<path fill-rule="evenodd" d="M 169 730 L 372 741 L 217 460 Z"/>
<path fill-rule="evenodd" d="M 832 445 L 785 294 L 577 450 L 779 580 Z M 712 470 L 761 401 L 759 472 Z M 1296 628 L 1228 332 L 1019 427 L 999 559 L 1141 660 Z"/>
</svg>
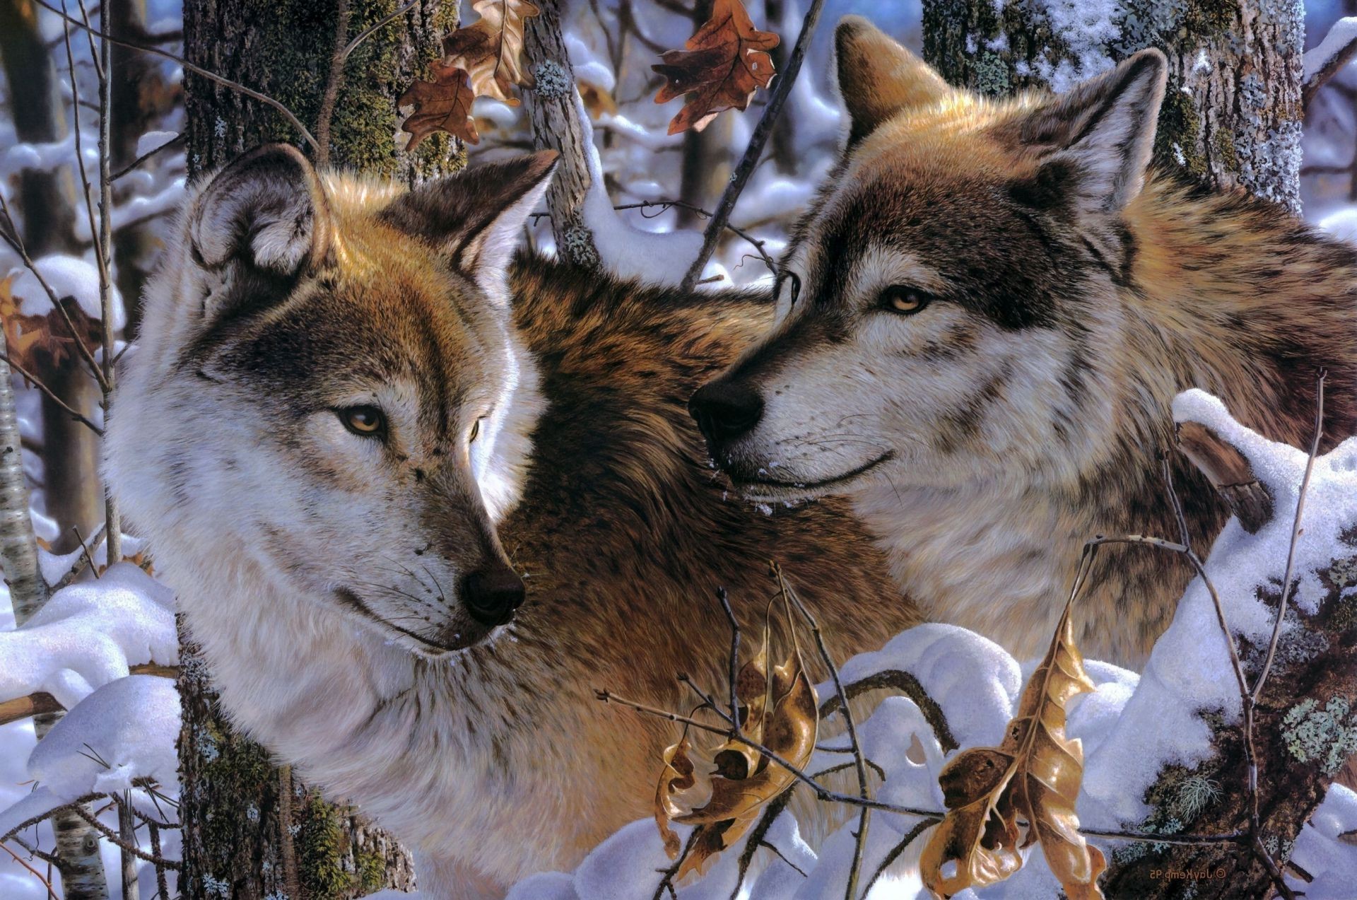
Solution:
<svg viewBox="0 0 1357 900">
<path fill-rule="evenodd" d="M 653 65 L 666 83 L 655 103 L 688 94 L 688 102 L 669 122 L 669 133 L 700 132 L 722 110 L 745 110 L 754 91 L 767 88 L 775 73 L 768 50 L 779 38 L 760 31 L 740 0 L 715 0 L 711 18 L 684 43 L 685 50 L 666 50 Z"/>
</svg>

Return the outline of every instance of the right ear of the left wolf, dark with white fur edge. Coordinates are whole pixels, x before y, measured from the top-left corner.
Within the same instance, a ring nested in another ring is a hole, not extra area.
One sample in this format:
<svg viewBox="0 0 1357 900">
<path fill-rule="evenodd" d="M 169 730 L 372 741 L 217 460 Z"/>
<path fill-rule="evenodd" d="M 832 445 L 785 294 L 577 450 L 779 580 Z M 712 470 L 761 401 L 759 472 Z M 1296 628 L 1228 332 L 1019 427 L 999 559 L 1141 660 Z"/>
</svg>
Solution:
<svg viewBox="0 0 1357 900">
<path fill-rule="evenodd" d="M 381 217 L 445 254 L 491 300 L 509 303 L 509 258 L 528 214 L 541 201 L 556 151 L 486 163 L 415 187 Z"/>
</svg>

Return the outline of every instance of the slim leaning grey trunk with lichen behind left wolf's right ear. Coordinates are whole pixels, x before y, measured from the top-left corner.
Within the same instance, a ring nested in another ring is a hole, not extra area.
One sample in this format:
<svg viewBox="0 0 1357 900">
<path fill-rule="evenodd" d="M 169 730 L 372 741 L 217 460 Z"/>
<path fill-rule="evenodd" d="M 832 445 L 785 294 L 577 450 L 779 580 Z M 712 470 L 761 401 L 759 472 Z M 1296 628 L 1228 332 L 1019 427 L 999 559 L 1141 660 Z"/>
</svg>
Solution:
<svg viewBox="0 0 1357 900">
<path fill-rule="evenodd" d="M 560 35 L 560 4 L 540 0 L 537 7 L 541 15 L 528 19 L 524 27 L 524 58 L 535 83 L 522 88 L 522 98 L 533 145 L 560 153 L 556 174 L 547 187 L 551 233 L 565 259 L 597 266 L 598 248 L 584 221 L 585 194 L 593 183 L 588 163 L 592 148 L 579 118 L 575 71 Z"/>
</svg>

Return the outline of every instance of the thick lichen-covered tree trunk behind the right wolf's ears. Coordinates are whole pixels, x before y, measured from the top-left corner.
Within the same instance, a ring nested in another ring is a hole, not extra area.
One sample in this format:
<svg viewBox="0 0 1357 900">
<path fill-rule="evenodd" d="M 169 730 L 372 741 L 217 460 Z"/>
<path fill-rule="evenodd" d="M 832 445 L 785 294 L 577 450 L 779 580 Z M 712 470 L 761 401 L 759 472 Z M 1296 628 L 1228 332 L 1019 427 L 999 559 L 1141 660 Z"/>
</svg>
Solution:
<svg viewBox="0 0 1357 900">
<path fill-rule="evenodd" d="M 1168 56 L 1155 157 L 1210 187 L 1300 212 L 1301 5 L 1118 0 L 1106 29 L 1048 0 L 924 0 L 924 58 L 981 94 L 1065 90 L 1149 46 Z M 1091 37 L 1092 35 L 1092 37 Z"/>
</svg>

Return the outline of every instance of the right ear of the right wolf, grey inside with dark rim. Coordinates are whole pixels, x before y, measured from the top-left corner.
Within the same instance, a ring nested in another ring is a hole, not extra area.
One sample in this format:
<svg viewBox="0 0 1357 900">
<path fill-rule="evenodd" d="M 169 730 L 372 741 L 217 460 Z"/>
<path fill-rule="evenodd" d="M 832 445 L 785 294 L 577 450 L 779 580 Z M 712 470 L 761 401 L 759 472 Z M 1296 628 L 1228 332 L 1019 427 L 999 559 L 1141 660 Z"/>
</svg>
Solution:
<svg viewBox="0 0 1357 900">
<path fill-rule="evenodd" d="M 1048 155 L 1048 172 L 1073 170 L 1083 208 L 1120 212 L 1144 185 L 1167 80 L 1164 54 L 1141 50 L 1030 114 L 1019 141 Z"/>
</svg>

